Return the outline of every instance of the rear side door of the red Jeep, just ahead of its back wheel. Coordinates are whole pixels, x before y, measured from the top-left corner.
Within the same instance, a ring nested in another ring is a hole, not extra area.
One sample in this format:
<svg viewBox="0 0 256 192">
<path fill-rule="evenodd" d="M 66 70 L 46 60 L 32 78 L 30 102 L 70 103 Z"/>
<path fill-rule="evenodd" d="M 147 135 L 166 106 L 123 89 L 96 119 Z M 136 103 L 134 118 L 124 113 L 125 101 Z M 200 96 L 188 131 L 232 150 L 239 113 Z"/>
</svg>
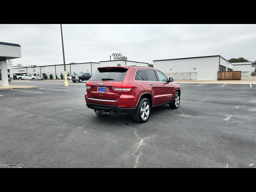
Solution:
<svg viewBox="0 0 256 192">
<path fill-rule="evenodd" d="M 146 70 L 146 80 L 148 82 L 148 89 L 151 91 L 154 98 L 153 106 L 161 104 L 162 85 L 157 80 L 154 70 Z"/>
</svg>

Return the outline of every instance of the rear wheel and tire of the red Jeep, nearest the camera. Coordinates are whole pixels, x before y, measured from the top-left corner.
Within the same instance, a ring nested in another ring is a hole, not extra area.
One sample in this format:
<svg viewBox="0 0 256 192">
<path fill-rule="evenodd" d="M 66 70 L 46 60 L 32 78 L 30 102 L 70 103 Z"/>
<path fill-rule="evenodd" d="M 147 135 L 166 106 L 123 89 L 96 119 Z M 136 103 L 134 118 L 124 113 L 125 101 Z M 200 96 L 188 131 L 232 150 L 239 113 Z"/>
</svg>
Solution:
<svg viewBox="0 0 256 192">
<path fill-rule="evenodd" d="M 147 109 L 145 110 L 145 108 Z M 148 120 L 150 116 L 150 112 L 151 112 L 151 105 L 149 100 L 147 98 L 142 98 L 138 103 L 138 106 L 134 114 L 132 114 L 133 120 L 138 123 L 144 123 Z M 145 117 L 146 114 L 148 114 L 147 117 Z"/>
</svg>

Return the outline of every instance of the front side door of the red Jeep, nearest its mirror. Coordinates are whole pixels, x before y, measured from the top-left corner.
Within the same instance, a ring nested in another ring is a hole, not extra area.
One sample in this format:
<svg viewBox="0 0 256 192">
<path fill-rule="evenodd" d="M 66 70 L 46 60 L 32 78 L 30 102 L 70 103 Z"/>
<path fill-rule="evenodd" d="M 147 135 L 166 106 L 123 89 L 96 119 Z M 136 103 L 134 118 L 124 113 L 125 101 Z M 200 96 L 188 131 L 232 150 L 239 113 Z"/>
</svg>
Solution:
<svg viewBox="0 0 256 192">
<path fill-rule="evenodd" d="M 158 81 L 162 86 L 162 100 L 161 103 L 167 103 L 172 101 L 173 97 L 173 86 L 171 82 L 167 82 L 168 78 L 160 71 L 156 71 Z"/>
</svg>

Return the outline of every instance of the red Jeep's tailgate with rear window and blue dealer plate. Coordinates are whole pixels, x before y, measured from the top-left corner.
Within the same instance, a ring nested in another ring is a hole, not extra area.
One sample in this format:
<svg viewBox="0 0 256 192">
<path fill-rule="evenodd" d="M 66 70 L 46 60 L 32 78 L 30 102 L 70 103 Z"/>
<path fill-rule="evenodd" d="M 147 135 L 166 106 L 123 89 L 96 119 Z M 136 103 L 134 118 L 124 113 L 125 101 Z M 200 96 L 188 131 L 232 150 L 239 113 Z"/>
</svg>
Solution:
<svg viewBox="0 0 256 192">
<path fill-rule="evenodd" d="M 99 68 L 88 80 L 92 84 L 92 87 L 86 90 L 88 98 L 118 100 L 122 91 L 114 90 L 112 85 L 121 84 L 127 70 L 128 68 L 122 67 Z"/>
</svg>

